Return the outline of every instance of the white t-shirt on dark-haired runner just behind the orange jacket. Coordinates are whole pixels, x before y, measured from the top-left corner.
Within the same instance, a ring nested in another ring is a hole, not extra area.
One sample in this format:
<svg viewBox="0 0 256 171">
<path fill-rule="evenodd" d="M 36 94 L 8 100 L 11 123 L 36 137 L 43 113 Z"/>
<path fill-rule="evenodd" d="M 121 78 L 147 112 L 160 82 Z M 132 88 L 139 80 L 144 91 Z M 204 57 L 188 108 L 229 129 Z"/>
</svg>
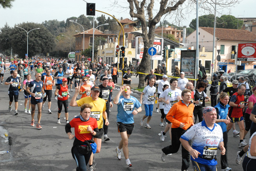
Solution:
<svg viewBox="0 0 256 171">
<path fill-rule="evenodd" d="M 161 93 L 161 97 L 163 97 L 165 100 L 169 100 L 169 104 L 166 104 L 166 107 L 164 108 L 164 114 L 168 114 L 169 110 L 171 109 L 172 105 L 177 103 L 179 100 L 177 100 L 177 96 L 181 97 L 181 90 L 176 88 L 176 90 L 172 90 L 171 88 L 166 89 Z"/>
</svg>

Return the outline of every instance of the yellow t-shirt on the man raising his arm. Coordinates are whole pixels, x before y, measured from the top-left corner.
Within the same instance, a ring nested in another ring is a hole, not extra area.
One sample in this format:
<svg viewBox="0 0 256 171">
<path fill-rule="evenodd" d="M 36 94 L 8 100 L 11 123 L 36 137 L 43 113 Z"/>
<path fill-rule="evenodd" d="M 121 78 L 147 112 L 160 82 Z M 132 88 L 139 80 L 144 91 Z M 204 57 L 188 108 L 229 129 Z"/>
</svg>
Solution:
<svg viewBox="0 0 256 171">
<path fill-rule="evenodd" d="M 93 106 L 91 110 L 90 117 L 95 118 L 98 123 L 98 128 L 103 127 L 103 111 L 106 111 L 106 102 L 105 100 L 99 98 L 98 100 L 93 100 L 92 97 L 84 97 L 80 100 L 76 101 L 78 106 L 83 105 L 84 103 L 88 103 Z"/>
</svg>

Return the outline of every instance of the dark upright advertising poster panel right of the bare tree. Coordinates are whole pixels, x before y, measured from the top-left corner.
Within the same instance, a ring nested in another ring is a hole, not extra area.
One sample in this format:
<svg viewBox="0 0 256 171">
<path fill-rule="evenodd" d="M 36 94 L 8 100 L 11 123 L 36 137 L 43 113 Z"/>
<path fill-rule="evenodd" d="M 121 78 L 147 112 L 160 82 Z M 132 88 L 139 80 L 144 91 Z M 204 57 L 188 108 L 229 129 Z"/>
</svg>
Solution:
<svg viewBox="0 0 256 171">
<path fill-rule="evenodd" d="M 186 78 L 195 78 L 195 51 L 196 50 L 181 51 L 180 72 L 184 72 Z"/>
</svg>

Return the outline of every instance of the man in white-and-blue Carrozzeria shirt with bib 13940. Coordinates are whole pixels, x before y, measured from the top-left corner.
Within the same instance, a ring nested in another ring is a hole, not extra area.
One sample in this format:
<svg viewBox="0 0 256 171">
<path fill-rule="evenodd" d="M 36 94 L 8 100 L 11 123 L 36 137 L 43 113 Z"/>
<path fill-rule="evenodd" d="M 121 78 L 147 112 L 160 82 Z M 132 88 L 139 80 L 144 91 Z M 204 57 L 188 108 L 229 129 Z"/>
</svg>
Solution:
<svg viewBox="0 0 256 171">
<path fill-rule="evenodd" d="M 218 148 L 221 155 L 225 154 L 221 126 L 215 123 L 217 113 L 215 108 L 204 108 L 204 120 L 192 126 L 180 137 L 183 147 L 191 155 L 195 171 L 216 171 Z M 210 131 L 209 131 L 210 130 Z M 192 146 L 189 141 L 192 140 Z"/>
</svg>

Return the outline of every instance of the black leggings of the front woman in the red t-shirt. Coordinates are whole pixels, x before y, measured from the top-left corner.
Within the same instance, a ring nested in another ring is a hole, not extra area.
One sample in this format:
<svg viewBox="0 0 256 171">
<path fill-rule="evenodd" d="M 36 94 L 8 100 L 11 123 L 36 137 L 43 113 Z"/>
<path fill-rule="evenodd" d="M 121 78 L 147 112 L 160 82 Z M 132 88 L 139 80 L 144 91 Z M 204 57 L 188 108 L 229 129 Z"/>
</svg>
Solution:
<svg viewBox="0 0 256 171">
<path fill-rule="evenodd" d="M 86 165 L 88 164 L 90 160 L 90 156 L 92 154 L 92 151 L 90 150 L 87 154 L 81 154 L 79 153 L 77 147 L 73 147 L 71 149 L 72 156 L 76 161 L 77 171 L 86 171 Z"/>
</svg>

